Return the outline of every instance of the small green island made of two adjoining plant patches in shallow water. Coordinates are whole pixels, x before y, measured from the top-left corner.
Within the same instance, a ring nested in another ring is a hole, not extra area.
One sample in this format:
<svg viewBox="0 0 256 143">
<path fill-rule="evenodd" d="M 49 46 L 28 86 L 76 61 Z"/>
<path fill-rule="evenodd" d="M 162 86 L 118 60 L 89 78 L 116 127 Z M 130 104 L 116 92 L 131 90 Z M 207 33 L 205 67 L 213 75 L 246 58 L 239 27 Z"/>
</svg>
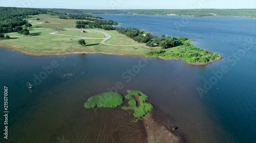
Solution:
<svg viewBox="0 0 256 143">
<path fill-rule="evenodd" d="M 128 106 L 123 106 L 124 110 L 134 110 L 134 121 L 139 121 L 146 115 L 147 112 L 153 109 L 153 105 L 146 103 L 148 96 L 142 91 L 128 90 L 125 100 L 128 101 Z M 94 107 L 114 108 L 123 104 L 123 97 L 119 93 L 106 92 L 100 95 L 93 96 L 88 99 L 84 107 L 91 109 Z"/>
</svg>

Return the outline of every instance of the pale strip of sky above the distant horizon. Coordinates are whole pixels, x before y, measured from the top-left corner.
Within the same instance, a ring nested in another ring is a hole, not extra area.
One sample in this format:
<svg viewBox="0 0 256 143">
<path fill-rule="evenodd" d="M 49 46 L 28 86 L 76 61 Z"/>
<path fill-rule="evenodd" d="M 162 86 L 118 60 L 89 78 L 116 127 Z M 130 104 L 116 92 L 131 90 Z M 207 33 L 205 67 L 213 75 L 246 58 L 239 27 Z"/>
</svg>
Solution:
<svg viewBox="0 0 256 143">
<path fill-rule="evenodd" d="M 67 9 L 256 9 L 256 0 L 0 0 L 0 6 Z"/>
</svg>

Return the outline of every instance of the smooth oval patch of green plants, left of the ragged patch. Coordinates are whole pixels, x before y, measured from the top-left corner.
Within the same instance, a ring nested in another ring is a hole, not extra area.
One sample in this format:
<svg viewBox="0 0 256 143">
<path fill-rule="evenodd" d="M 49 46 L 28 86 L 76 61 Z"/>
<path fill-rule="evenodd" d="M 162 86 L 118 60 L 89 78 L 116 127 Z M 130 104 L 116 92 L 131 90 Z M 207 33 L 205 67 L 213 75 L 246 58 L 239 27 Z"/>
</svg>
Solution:
<svg viewBox="0 0 256 143">
<path fill-rule="evenodd" d="M 106 92 L 100 95 L 93 96 L 84 104 L 87 109 L 94 107 L 114 108 L 122 105 L 123 97 L 119 93 Z"/>
</svg>

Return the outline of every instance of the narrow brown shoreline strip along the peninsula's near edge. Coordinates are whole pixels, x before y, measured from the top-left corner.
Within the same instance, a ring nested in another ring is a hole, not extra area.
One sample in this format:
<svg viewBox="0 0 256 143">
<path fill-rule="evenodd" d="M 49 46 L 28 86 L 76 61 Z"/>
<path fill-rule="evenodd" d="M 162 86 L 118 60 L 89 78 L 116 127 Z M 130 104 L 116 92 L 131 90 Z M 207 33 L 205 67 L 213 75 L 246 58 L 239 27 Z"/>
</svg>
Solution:
<svg viewBox="0 0 256 143">
<path fill-rule="evenodd" d="M 0 45 L 0 48 L 3 49 L 8 49 L 11 51 L 15 51 L 15 52 L 19 52 L 19 53 L 23 53 L 25 55 L 29 55 L 29 56 L 54 56 L 54 55 L 72 55 L 72 54 L 112 54 L 112 55 L 123 55 L 123 56 L 136 56 L 136 57 L 143 57 L 143 58 L 159 58 L 162 60 L 181 60 L 181 59 L 176 59 L 176 58 L 163 58 L 163 57 L 147 57 L 145 55 L 128 55 L 128 54 L 121 54 L 121 53 L 111 53 L 111 52 L 68 52 L 68 53 L 57 53 L 57 54 L 38 54 L 38 53 L 30 53 L 30 52 L 26 52 L 26 51 L 20 51 L 20 50 L 14 50 L 11 48 L 7 48 L 5 46 Z M 210 60 L 209 63 L 188 63 L 185 60 L 181 60 L 183 62 L 185 62 L 188 65 L 194 65 L 194 66 L 205 66 L 208 65 L 212 62 L 215 62 L 217 60 L 222 60 L 222 56 L 220 59 L 215 59 L 215 60 Z"/>
</svg>

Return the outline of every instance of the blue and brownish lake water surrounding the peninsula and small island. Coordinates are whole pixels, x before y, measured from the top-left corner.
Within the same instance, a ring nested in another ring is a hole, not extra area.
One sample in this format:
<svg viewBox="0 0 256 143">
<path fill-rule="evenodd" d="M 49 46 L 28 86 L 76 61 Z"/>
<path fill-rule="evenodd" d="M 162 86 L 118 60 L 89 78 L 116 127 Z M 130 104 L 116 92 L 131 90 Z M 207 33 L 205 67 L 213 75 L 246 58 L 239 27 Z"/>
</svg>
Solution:
<svg viewBox="0 0 256 143">
<path fill-rule="evenodd" d="M 0 49 L 0 86 L 9 89 L 8 142 L 58 142 L 62 138 L 70 142 L 141 142 L 145 132 L 140 123 L 130 123 L 129 112 L 83 108 L 89 97 L 107 92 L 119 81 L 124 87 L 118 92 L 123 95 L 136 89 L 150 96 L 156 109 L 179 127 L 186 142 L 255 142 L 256 20 L 98 16 L 158 36 L 186 36 L 224 58 L 193 66 L 177 60 L 103 54 L 36 57 Z M 238 53 L 235 58 L 233 53 Z M 141 60 L 146 64 L 131 81 L 122 77 Z M 56 68 L 43 74 L 51 64 Z M 34 80 L 37 76 L 42 78 Z M 31 91 L 28 82 L 38 85 Z M 210 83 L 204 88 L 205 82 Z M 200 95 L 199 88 L 206 93 Z M 3 135 L 0 141 L 6 141 Z"/>
</svg>

